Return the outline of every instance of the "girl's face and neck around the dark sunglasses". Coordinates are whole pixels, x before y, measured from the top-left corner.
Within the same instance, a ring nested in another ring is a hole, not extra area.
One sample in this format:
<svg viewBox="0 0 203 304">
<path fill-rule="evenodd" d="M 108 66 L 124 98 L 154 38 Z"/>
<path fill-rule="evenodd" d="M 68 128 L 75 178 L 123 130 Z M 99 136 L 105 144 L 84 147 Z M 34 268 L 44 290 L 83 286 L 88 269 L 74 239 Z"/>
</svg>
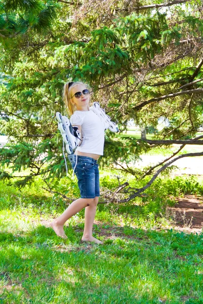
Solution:
<svg viewBox="0 0 203 304">
<path fill-rule="evenodd" d="M 74 103 L 78 110 L 86 110 L 89 106 L 90 94 L 85 95 L 83 90 L 87 90 L 85 85 L 77 85 L 71 90 L 71 99 L 70 101 Z M 74 96 L 77 92 L 81 92 L 82 95 L 80 97 Z"/>
</svg>

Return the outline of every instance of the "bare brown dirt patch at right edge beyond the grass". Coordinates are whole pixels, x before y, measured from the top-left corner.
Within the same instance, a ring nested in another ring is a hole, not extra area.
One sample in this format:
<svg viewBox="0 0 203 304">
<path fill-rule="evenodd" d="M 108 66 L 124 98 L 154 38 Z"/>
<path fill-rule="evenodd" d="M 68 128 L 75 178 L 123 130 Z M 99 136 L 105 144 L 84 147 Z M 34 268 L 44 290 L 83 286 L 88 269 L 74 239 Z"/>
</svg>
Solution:
<svg viewBox="0 0 203 304">
<path fill-rule="evenodd" d="M 186 195 L 184 198 L 177 198 L 176 205 L 167 211 L 176 222 L 175 230 L 198 234 L 202 232 L 203 197 Z"/>
</svg>

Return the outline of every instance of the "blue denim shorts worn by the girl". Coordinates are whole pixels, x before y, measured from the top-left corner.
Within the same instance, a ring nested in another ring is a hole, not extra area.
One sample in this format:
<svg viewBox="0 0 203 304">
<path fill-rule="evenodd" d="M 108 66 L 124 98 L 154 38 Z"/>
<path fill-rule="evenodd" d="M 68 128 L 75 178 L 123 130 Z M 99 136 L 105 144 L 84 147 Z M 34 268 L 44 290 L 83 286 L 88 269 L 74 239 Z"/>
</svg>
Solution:
<svg viewBox="0 0 203 304">
<path fill-rule="evenodd" d="M 77 157 L 77 165 L 76 165 Z M 99 171 L 97 161 L 86 156 L 74 155 L 72 168 L 78 178 L 78 186 L 82 199 L 99 197 Z"/>
</svg>

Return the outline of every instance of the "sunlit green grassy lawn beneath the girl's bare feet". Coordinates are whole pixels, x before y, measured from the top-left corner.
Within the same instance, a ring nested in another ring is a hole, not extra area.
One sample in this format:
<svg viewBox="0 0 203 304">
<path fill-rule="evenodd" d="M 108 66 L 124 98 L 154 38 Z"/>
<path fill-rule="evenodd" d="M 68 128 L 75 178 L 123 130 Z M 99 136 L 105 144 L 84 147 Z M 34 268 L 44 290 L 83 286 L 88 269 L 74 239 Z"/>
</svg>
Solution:
<svg viewBox="0 0 203 304">
<path fill-rule="evenodd" d="M 203 303 L 203 234 L 172 229 L 164 182 L 147 199 L 98 205 L 103 245 L 81 242 L 84 210 L 68 221 L 67 240 L 54 234 L 49 222 L 66 203 L 42 181 L 21 192 L 1 182 L 0 303 Z"/>
</svg>

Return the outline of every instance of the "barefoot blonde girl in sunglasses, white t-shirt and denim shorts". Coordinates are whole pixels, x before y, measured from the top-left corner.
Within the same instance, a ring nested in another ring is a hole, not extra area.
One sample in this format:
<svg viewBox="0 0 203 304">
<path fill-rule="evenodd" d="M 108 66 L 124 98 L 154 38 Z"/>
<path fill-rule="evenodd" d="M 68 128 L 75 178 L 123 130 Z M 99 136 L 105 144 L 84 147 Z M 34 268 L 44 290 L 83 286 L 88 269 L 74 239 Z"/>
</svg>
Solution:
<svg viewBox="0 0 203 304">
<path fill-rule="evenodd" d="M 67 219 L 85 208 L 85 227 L 82 241 L 102 242 L 92 236 L 92 226 L 99 197 L 98 158 L 103 155 L 105 126 L 89 109 L 90 92 L 84 83 L 70 82 L 63 88 L 63 101 L 71 114 L 71 124 L 78 128 L 81 142 L 74 155 L 72 168 L 78 179 L 81 198 L 74 201 L 51 226 L 55 233 L 66 239 L 63 225 Z"/>
</svg>

